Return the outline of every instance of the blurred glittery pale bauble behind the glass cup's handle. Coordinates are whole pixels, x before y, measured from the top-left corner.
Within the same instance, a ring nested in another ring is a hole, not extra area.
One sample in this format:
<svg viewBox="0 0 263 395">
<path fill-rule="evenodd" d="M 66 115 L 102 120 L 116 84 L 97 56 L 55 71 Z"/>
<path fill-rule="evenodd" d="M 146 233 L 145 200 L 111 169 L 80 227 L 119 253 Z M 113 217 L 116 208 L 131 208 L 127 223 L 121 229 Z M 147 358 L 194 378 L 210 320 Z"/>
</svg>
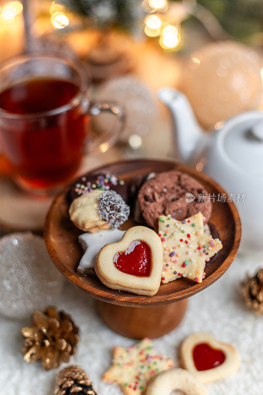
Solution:
<svg viewBox="0 0 263 395">
<path fill-rule="evenodd" d="M 125 110 L 124 129 L 120 136 L 122 142 L 141 142 L 141 136 L 150 132 L 158 117 L 158 107 L 150 88 L 135 76 L 119 77 L 104 82 L 96 93 L 96 101 L 110 100 L 120 104 Z M 103 117 L 104 116 L 104 117 Z M 111 121 L 105 114 L 96 117 L 96 125 L 103 127 L 104 122 Z M 141 144 L 139 144 L 140 146 Z"/>
</svg>

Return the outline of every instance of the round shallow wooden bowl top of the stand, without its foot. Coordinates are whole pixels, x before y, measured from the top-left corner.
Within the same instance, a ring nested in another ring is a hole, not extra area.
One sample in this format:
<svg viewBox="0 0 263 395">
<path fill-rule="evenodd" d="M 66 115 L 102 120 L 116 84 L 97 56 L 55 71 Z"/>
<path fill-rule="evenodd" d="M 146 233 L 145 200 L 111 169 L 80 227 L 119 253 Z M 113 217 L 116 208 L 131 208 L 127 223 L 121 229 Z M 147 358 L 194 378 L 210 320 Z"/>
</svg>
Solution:
<svg viewBox="0 0 263 395">
<path fill-rule="evenodd" d="M 117 174 L 125 183 L 130 184 L 137 175 L 147 175 L 150 172 L 162 172 L 175 169 L 185 172 L 195 178 L 203 184 L 208 193 L 215 194 L 216 197 L 218 194 L 225 194 L 223 188 L 207 175 L 196 172 L 187 166 L 169 161 L 120 161 L 97 168 L 90 174 L 97 174 L 102 170 L 107 170 L 110 173 Z M 107 288 L 100 282 L 97 276 L 87 277 L 79 275 L 76 272 L 80 257 L 83 255 L 77 237 L 83 232 L 78 230 L 70 221 L 68 215 L 69 203 L 66 199 L 67 192 L 68 188 L 55 197 L 47 214 L 44 229 L 46 246 L 53 262 L 64 276 L 84 292 L 87 292 L 100 301 L 118 305 L 118 307 L 127 306 L 130 308 L 162 306 L 163 313 L 163 305 L 182 301 L 215 282 L 225 273 L 237 253 L 241 237 L 241 224 L 237 209 L 233 202 L 215 201 L 213 203 L 213 212 L 210 222 L 215 225 L 220 234 L 223 249 L 217 259 L 206 268 L 206 277 L 202 283 L 195 283 L 187 278 L 180 278 L 167 284 L 161 284 L 158 292 L 154 296 L 138 296 L 132 293 Z M 129 219 L 121 229 L 127 230 L 134 225 L 136 224 L 132 219 Z M 103 306 L 103 304 L 100 304 L 100 306 Z M 181 304 L 180 306 L 185 310 L 186 304 Z M 103 314 L 102 310 L 105 309 L 100 308 Z M 110 315 L 114 313 L 113 306 L 110 308 L 108 305 L 108 310 L 108 316 L 110 317 Z M 124 311 L 127 312 L 127 310 Z M 155 311 L 157 310 L 155 309 Z M 104 319 L 109 321 L 109 317 L 108 319 L 104 317 Z M 109 324 L 109 322 L 107 323 Z M 114 330 L 116 329 L 114 328 Z M 120 331 L 118 332 L 120 333 Z"/>
</svg>

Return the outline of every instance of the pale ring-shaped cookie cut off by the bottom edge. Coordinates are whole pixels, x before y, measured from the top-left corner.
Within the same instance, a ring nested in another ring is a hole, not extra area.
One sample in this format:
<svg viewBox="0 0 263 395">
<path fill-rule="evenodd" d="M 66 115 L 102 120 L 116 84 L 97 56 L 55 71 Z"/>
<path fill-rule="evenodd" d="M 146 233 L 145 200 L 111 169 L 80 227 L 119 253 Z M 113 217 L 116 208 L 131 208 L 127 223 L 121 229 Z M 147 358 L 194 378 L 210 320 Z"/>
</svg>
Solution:
<svg viewBox="0 0 263 395">
<path fill-rule="evenodd" d="M 148 384 L 146 395 L 170 395 L 176 390 L 186 395 L 208 395 L 207 389 L 196 377 L 180 368 L 165 370 L 154 376 Z"/>
</svg>

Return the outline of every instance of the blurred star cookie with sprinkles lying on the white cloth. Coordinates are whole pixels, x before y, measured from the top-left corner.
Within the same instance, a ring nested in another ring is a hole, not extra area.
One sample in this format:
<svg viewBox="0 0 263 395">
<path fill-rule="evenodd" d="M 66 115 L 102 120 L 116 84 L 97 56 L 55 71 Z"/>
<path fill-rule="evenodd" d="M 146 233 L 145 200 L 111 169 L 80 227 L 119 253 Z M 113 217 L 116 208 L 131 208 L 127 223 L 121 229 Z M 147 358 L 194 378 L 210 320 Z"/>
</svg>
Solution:
<svg viewBox="0 0 263 395">
<path fill-rule="evenodd" d="M 173 360 L 155 354 L 150 339 L 145 338 L 132 347 L 114 347 L 113 365 L 102 379 L 118 383 L 125 395 L 141 395 L 153 376 L 173 366 Z"/>
</svg>

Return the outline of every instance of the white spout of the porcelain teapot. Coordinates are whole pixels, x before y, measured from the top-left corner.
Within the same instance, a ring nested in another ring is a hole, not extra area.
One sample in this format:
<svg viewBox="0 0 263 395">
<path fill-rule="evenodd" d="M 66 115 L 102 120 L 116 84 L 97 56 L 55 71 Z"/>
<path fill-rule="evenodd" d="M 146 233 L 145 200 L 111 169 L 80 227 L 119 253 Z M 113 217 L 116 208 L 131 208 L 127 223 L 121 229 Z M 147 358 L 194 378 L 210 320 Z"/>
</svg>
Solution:
<svg viewBox="0 0 263 395">
<path fill-rule="evenodd" d="M 173 119 L 175 155 L 180 162 L 187 163 L 201 140 L 205 139 L 186 96 L 173 88 L 162 88 L 159 100 L 170 110 Z"/>
</svg>

